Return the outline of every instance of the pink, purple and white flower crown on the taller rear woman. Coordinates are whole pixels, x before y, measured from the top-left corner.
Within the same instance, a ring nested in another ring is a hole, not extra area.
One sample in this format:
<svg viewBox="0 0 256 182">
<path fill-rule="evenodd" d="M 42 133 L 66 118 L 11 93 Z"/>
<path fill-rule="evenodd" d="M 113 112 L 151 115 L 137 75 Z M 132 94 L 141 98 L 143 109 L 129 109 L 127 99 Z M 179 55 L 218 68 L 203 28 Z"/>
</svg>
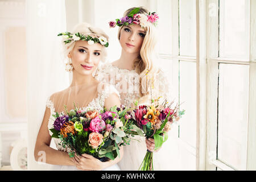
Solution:
<svg viewBox="0 0 256 182">
<path fill-rule="evenodd" d="M 115 27 L 116 25 L 118 27 L 121 27 L 123 25 L 132 25 L 132 24 L 140 24 L 142 27 L 146 27 L 148 23 L 156 24 L 158 23 L 159 16 L 158 14 L 154 13 L 148 13 L 148 15 L 144 14 L 137 14 L 139 12 L 139 7 L 133 9 L 128 16 L 125 16 L 121 19 L 115 19 L 114 21 L 109 22 L 109 27 Z"/>
</svg>

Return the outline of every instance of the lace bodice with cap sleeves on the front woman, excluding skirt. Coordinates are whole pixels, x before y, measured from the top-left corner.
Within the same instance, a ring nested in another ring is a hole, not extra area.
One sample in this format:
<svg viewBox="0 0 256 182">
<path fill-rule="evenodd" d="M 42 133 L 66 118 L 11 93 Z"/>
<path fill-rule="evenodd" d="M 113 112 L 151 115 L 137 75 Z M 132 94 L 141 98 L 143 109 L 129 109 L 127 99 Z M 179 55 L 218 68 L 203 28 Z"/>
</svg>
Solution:
<svg viewBox="0 0 256 182">
<path fill-rule="evenodd" d="M 80 109 L 85 110 L 85 111 L 86 110 L 92 110 L 92 109 L 103 110 L 104 105 L 105 105 L 104 104 L 105 99 L 108 98 L 110 96 L 110 94 L 112 94 L 112 93 L 117 94 L 117 96 L 120 98 L 120 95 L 119 95 L 117 89 L 115 89 L 113 85 L 105 84 L 104 89 L 98 90 L 97 97 L 94 98 L 91 102 L 89 102 L 89 104 L 87 106 L 80 107 Z M 55 111 L 55 104 L 51 100 L 51 97 L 48 97 L 47 102 L 46 102 L 46 106 L 51 110 L 51 115 L 49 117 L 49 122 L 48 122 L 48 129 L 52 129 L 53 128 L 53 122 L 55 121 L 55 118 L 52 115 L 55 115 L 56 111 Z M 62 111 L 62 112 L 64 113 L 64 111 Z M 52 135 L 52 132 L 50 130 L 49 130 L 49 134 Z M 68 150 L 66 150 L 65 148 L 63 148 L 60 145 L 60 139 L 53 138 L 53 140 L 56 144 L 57 150 L 69 152 Z"/>
</svg>

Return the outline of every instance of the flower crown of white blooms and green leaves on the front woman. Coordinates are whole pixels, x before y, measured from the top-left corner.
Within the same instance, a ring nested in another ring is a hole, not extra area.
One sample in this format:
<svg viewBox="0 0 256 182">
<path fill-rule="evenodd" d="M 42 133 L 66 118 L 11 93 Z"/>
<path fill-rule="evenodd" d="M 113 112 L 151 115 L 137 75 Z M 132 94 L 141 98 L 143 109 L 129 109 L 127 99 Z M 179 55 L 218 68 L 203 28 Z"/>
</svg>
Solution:
<svg viewBox="0 0 256 182">
<path fill-rule="evenodd" d="M 100 36 L 99 38 L 93 38 L 90 35 L 83 35 L 77 32 L 76 34 L 72 34 L 71 32 L 64 32 L 58 34 L 58 36 L 63 36 L 64 43 L 68 44 L 71 43 L 72 41 L 77 41 L 77 40 L 86 40 L 88 41 L 89 45 L 93 45 L 94 43 L 100 43 L 102 46 L 108 47 L 109 43 L 107 42 L 107 39 L 104 36 Z"/>
</svg>

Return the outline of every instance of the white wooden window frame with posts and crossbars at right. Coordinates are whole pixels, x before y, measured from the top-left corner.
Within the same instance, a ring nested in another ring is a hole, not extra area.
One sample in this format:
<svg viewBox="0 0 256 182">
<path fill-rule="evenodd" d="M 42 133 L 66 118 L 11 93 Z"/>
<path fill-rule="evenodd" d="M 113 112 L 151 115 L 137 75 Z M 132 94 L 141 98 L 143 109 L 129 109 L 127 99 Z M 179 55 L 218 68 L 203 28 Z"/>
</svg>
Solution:
<svg viewBox="0 0 256 182">
<path fill-rule="evenodd" d="M 179 60 L 196 62 L 197 69 L 197 129 L 196 149 L 179 139 L 179 142 L 196 156 L 196 170 L 235 170 L 217 160 L 217 100 L 218 64 L 243 64 L 250 67 L 249 120 L 247 130 L 246 170 L 256 169 L 256 1 L 250 0 L 250 60 L 239 57 L 219 57 L 218 1 L 196 0 L 196 57 L 179 56 L 179 0 L 172 0 L 172 55 L 160 54 L 171 59 L 176 68 Z M 157 3 L 152 3 L 154 7 Z M 152 7 L 153 7 L 152 6 Z M 177 71 L 178 72 L 178 71 Z M 174 86 L 179 86 L 178 73 Z"/>
</svg>

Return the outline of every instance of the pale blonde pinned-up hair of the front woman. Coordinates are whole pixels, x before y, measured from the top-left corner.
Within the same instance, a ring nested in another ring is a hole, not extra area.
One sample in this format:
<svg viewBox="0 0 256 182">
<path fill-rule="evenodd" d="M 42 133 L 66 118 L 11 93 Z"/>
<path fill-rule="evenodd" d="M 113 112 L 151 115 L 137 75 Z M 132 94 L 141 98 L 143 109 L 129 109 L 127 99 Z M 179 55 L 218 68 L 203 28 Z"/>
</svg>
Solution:
<svg viewBox="0 0 256 182">
<path fill-rule="evenodd" d="M 80 34 L 90 35 L 90 36 L 97 37 L 97 38 L 99 38 L 100 36 L 104 36 L 107 39 L 107 41 L 109 42 L 109 36 L 106 35 L 105 32 L 103 30 L 101 30 L 101 28 L 93 27 L 89 23 L 86 23 L 86 22 L 77 24 L 73 28 L 71 33 L 75 34 L 77 32 L 79 32 Z M 63 41 L 64 41 L 64 39 L 62 40 L 64 58 L 67 58 L 69 52 L 71 52 L 73 50 L 73 48 L 75 47 L 76 42 L 73 41 L 71 44 L 65 44 Z M 105 61 L 106 56 L 107 56 L 106 47 L 102 46 L 101 60 Z"/>
</svg>

